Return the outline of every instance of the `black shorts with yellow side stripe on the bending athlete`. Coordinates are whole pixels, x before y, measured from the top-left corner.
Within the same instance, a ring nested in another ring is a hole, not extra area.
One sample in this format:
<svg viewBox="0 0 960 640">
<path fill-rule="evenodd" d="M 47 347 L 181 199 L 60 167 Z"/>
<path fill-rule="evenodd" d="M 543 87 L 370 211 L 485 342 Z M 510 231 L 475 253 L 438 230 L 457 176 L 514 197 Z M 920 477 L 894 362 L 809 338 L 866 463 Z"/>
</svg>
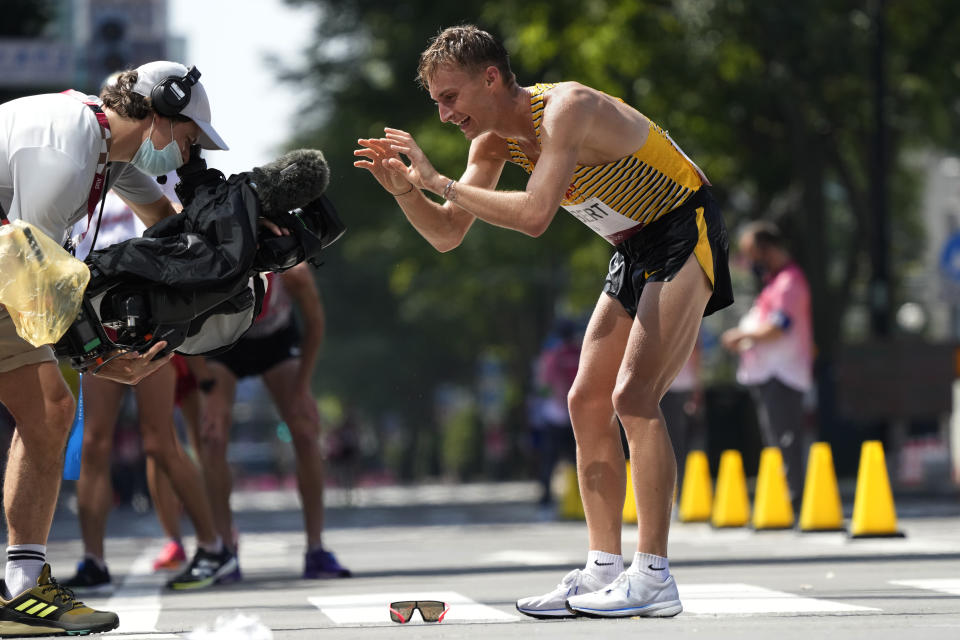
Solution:
<svg viewBox="0 0 960 640">
<path fill-rule="evenodd" d="M 733 304 L 727 228 L 710 189 L 701 187 L 682 205 L 648 224 L 615 248 L 603 291 L 631 317 L 647 282 L 669 282 L 693 253 L 713 285 L 703 315 Z"/>
</svg>

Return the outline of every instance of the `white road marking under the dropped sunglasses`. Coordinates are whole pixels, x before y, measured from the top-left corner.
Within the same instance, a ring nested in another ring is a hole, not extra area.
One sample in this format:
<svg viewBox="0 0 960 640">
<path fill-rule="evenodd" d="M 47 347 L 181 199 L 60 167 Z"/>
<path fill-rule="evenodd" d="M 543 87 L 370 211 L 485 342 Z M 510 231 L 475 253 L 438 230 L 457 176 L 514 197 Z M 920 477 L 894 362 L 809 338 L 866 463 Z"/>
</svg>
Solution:
<svg viewBox="0 0 960 640">
<path fill-rule="evenodd" d="M 444 622 L 515 622 L 519 617 L 474 602 L 454 591 L 404 591 L 397 593 L 363 593 L 350 596 L 313 596 L 307 598 L 307 600 L 335 624 L 396 624 L 390 620 L 390 603 L 400 600 L 440 600 L 446 602 L 450 610 L 444 616 Z M 408 624 L 431 623 L 422 622 L 420 614 L 415 612 L 413 620 Z"/>
</svg>

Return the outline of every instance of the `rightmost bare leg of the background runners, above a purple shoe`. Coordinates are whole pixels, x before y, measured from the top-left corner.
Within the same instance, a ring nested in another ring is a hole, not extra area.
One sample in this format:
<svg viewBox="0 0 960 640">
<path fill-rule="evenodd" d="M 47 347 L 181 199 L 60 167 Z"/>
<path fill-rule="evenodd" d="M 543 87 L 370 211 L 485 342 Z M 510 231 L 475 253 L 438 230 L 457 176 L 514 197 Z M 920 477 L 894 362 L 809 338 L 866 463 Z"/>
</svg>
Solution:
<svg viewBox="0 0 960 640">
<path fill-rule="evenodd" d="M 299 367 L 299 359 L 285 360 L 263 374 L 263 381 L 293 438 L 309 550 L 319 547 L 323 536 L 323 454 L 317 402 L 306 390 L 297 389 Z"/>
</svg>

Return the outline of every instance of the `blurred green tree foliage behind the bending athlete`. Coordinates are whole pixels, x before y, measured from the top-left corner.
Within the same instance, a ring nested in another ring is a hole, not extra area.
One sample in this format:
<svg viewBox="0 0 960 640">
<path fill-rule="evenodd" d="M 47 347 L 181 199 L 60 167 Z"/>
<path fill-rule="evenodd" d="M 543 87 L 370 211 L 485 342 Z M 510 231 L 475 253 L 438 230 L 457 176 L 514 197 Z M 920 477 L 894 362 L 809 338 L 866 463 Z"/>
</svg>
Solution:
<svg viewBox="0 0 960 640">
<path fill-rule="evenodd" d="M 419 52 L 445 26 L 475 22 L 505 41 L 523 84 L 578 80 L 624 98 L 671 131 L 716 185 L 728 226 L 773 217 L 814 289 L 816 334 L 831 354 L 866 277 L 873 59 L 879 0 L 295 0 L 318 8 L 310 92 L 298 139 L 333 169 L 348 235 L 322 270 L 331 316 L 324 385 L 372 408 L 431 423 L 431 389 L 469 381 L 481 348 L 514 379 L 558 305 L 595 302 L 609 247 L 563 212 L 539 239 L 478 224 L 438 254 L 365 171 L 356 138 L 411 131 L 438 169 L 459 175 L 467 143 L 416 86 Z M 956 146 L 960 3 L 885 6 L 894 255 L 916 255 L 917 180 L 897 160 Z M 501 186 L 522 186 L 507 168 Z"/>
</svg>

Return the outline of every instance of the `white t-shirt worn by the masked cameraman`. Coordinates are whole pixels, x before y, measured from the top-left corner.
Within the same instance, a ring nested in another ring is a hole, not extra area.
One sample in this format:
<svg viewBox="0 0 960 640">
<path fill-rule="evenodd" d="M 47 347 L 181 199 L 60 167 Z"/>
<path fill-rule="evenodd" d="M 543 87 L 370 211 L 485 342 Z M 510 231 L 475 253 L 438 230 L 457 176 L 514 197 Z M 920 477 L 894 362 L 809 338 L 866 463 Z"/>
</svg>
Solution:
<svg viewBox="0 0 960 640">
<path fill-rule="evenodd" d="M 63 242 L 87 216 L 102 147 L 96 115 L 72 96 L 51 93 L 0 105 L 0 206 L 7 217 Z M 163 195 L 153 178 L 126 162 L 110 165 L 107 188 L 138 204 Z"/>
</svg>

